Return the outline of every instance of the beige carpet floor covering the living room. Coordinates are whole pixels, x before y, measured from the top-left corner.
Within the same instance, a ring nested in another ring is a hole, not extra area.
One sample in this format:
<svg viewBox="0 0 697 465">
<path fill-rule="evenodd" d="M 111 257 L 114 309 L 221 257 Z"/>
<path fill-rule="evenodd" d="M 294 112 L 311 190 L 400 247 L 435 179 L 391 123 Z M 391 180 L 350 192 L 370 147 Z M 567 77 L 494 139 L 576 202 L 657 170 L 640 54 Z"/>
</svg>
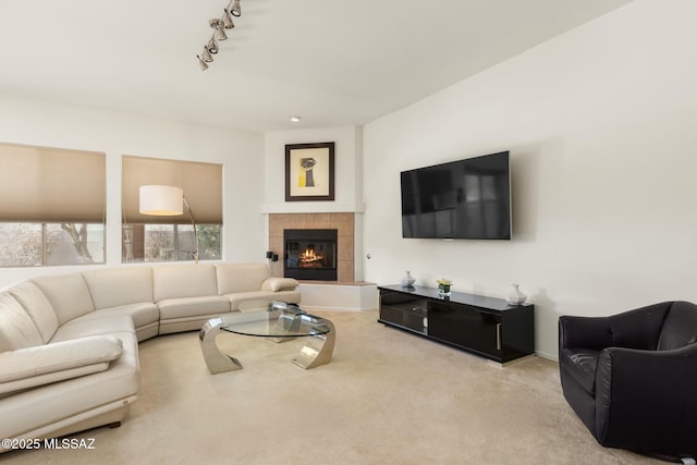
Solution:
<svg viewBox="0 0 697 465">
<path fill-rule="evenodd" d="M 220 334 L 244 369 L 210 375 L 197 332 L 140 344 L 142 394 L 94 450 L 14 451 L 11 464 L 661 464 L 597 444 L 564 401 L 559 368 L 501 368 L 386 328 L 376 311 L 325 313 L 329 365 L 284 344 Z"/>
</svg>

